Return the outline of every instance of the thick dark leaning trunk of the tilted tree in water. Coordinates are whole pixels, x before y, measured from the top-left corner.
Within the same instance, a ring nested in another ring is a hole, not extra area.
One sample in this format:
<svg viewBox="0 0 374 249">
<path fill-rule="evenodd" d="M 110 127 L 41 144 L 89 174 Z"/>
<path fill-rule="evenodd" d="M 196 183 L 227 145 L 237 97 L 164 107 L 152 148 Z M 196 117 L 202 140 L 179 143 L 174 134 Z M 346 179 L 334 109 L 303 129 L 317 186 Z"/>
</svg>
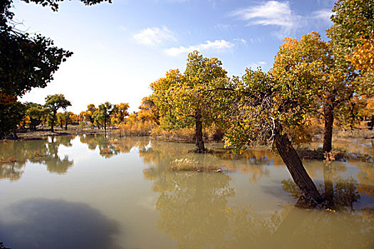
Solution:
<svg viewBox="0 0 374 249">
<path fill-rule="evenodd" d="M 287 169 L 289 169 L 292 179 L 294 179 L 301 193 L 301 198 L 310 203 L 321 203 L 321 194 L 319 194 L 316 185 L 314 185 L 311 177 L 306 172 L 300 157 L 298 157 L 296 150 L 286 134 L 276 131 L 275 144 L 279 155 L 283 159 L 284 164 L 286 164 Z"/>
</svg>

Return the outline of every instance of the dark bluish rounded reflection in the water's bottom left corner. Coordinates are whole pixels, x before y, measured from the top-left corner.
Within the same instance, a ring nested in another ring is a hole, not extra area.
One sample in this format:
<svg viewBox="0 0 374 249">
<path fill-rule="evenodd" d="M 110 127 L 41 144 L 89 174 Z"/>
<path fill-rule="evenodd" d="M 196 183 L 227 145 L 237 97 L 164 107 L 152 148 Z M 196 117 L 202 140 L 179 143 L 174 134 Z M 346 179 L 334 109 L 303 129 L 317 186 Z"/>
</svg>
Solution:
<svg viewBox="0 0 374 249">
<path fill-rule="evenodd" d="M 0 238 L 9 248 L 119 248 L 118 224 L 84 203 L 28 199 L 1 211 Z"/>
</svg>

